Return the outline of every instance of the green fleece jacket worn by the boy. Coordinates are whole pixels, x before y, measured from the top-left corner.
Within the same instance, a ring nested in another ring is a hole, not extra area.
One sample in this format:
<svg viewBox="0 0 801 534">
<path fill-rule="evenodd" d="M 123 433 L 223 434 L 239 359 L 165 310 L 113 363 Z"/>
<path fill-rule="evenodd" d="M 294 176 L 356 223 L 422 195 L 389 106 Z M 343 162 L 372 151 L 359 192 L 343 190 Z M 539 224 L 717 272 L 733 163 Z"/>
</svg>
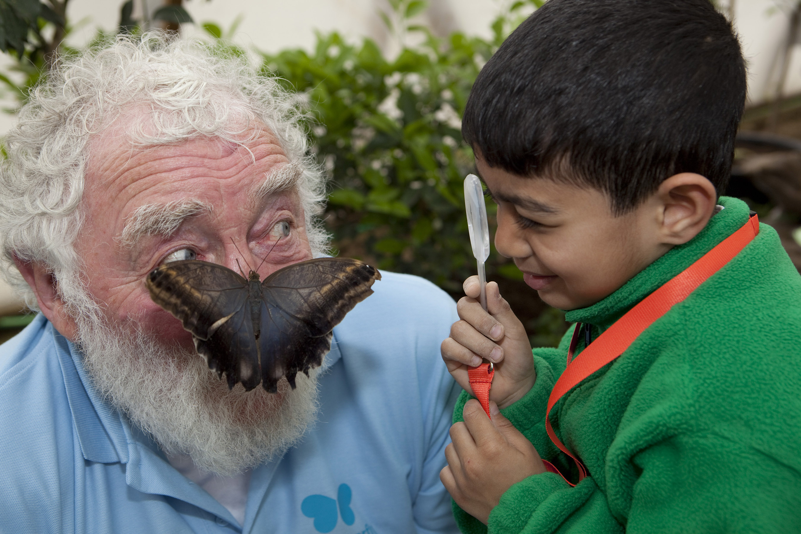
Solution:
<svg viewBox="0 0 801 534">
<path fill-rule="evenodd" d="M 690 243 L 567 319 L 592 325 L 596 339 L 746 223 L 745 203 L 720 203 Z M 501 412 L 577 480 L 545 433 L 572 331 L 558 348 L 534 349 L 536 383 Z M 564 395 L 551 423 L 590 476 L 575 488 L 549 472 L 514 484 L 489 532 L 801 532 L 801 276 L 776 232 L 761 225 L 735 259 Z M 453 508 L 462 532 L 488 532 Z"/>
</svg>

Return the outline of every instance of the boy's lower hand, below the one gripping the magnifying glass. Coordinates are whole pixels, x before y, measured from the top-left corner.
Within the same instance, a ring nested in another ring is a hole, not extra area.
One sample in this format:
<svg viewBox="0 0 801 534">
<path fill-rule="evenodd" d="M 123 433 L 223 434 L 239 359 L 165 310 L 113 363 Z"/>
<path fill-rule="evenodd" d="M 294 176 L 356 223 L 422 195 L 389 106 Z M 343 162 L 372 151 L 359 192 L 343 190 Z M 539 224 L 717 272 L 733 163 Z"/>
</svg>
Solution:
<svg viewBox="0 0 801 534">
<path fill-rule="evenodd" d="M 445 448 L 448 465 L 440 480 L 462 510 L 487 524 L 501 496 L 521 480 L 545 472 L 537 450 L 490 403 L 490 421 L 476 399 L 462 412 L 464 423 L 451 427 Z"/>
</svg>

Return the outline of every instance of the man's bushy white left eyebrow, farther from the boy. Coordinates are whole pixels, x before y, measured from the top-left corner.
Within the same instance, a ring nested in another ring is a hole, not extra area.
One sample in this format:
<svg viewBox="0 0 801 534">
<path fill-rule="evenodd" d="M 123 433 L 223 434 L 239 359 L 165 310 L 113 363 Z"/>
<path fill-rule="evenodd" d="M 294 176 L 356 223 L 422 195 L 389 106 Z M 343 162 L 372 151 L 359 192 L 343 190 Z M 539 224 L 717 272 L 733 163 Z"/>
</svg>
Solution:
<svg viewBox="0 0 801 534">
<path fill-rule="evenodd" d="M 166 204 L 145 204 L 127 218 L 116 239 L 123 247 L 133 247 L 143 235 L 172 235 L 183 221 L 211 213 L 211 204 L 196 199 L 174 200 Z"/>
</svg>

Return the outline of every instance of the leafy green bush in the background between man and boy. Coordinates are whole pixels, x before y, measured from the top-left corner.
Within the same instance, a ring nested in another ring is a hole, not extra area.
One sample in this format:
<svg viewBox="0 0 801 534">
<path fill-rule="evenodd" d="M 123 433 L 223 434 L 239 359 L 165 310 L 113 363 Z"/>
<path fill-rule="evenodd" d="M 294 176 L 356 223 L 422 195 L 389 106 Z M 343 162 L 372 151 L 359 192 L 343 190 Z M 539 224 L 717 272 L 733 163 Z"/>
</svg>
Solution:
<svg viewBox="0 0 801 534">
<path fill-rule="evenodd" d="M 408 25 L 425 3 L 390 3 L 388 26 L 420 41 L 395 59 L 369 39 L 353 45 L 334 32 L 318 34 L 311 53 L 264 54 L 264 68 L 308 98 L 315 150 L 334 186 L 325 220 L 340 253 L 457 292 L 475 271 L 462 188 L 473 154 L 461 140 L 461 114 L 481 66 L 525 5 L 539 2 L 516 2 L 497 19 L 492 42 L 437 38 Z M 487 208 L 492 217 L 494 204 Z M 488 273 L 521 279 L 497 253 Z"/>
</svg>

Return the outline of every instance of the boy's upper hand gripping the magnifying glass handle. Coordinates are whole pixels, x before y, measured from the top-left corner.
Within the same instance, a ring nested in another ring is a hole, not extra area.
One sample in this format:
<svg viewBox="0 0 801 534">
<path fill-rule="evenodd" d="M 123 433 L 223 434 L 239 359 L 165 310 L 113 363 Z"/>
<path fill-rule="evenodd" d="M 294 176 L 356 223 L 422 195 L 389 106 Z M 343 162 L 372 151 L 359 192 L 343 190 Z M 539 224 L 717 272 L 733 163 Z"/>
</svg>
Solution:
<svg viewBox="0 0 801 534">
<path fill-rule="evenodd" d="M 450 337 L 442 342 L 442 359 L 462 389 L 471 393 L 468 367 L 480 365 L 481 358 L 495 363 L 489 399 L 506 408 L 521 399 L 536 379 L 531 344 L 498 284 L 487 284 L 487 311 L 478 302 L 479 291 L 477 276 L 465 280 L 467 296 L 457 304 L 461 321 L 453 323 Z"/>
</svg>

